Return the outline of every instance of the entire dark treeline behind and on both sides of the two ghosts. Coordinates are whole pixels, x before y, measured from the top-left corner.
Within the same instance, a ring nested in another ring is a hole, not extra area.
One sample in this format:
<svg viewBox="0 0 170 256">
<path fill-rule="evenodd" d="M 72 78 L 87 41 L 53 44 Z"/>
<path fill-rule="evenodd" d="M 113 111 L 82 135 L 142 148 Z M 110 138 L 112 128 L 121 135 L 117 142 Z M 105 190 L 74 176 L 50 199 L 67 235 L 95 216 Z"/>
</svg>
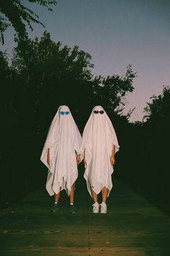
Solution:
<svg viewBox="0 0 170 256">
<path fill-rule="evenodd" d="M 134 90 L 131 66 L 124 76 L 93 77 L 88 53 L 54 43 L 47 32 L 42 38 L 19 40 L 12 54 L 9 61 L 0 52 L 1 202 L 44 184 L 40 153 L 63 104 L 71 108 L 81 132 L 91 109 L 102 105 L 120 142 L 115 176 L 155 199 L 168 200 L 169 88 L 147 104 L 145 121 L 132 124 L 130 112 L 122 114 L 125 95 Z"/>
</svg>

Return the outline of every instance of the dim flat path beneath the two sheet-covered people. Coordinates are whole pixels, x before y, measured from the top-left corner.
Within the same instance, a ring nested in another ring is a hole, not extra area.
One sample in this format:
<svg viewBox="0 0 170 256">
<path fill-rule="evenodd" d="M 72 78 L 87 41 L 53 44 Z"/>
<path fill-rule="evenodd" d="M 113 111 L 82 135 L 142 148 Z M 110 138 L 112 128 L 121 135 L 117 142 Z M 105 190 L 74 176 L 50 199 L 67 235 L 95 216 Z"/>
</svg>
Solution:
<svg viewBox="0 0 170 256">
<path fill-rule="evenodd" d="M 91 213 L 91 198 L 77 184 L 76 214 L 61 193 L 58 213 L 39 189 L 1 213 L 1 256 L 169 256 L 170 218 L 138 193 L 115 181 L 107 214 Z"/>
</svg>

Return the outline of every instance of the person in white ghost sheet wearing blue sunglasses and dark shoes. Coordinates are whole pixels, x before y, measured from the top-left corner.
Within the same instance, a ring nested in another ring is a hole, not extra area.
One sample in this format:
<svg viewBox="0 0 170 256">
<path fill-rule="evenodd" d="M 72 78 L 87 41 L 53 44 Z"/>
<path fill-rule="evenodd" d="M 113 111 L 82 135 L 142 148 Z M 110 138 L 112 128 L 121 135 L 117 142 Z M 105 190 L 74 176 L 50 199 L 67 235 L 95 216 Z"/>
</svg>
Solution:
<svg viewBox="0 0 170 256">
<path fill-rule="evenodd" d="M 52 211 L 58 210 L 60 192 L 66 189 L 70 197 L 70 213 L 75 213 L 73 205 L 74 183 L 78 177 L 77 155 L 81 145 L 81 135 L 68 106 L 60 106 L 50 125 L 48 136 L 40 160 L 48 167 L 46 189 L 55 195 Z"/>
</svg>

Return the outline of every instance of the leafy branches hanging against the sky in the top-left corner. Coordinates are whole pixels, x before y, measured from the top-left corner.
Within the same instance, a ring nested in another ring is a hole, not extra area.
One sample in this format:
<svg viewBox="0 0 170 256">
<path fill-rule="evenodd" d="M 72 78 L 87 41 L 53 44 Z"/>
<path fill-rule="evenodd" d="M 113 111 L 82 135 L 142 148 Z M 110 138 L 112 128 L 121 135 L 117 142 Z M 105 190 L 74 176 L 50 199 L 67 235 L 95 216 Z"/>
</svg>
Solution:
<svg viewBox="0 0 170 256">
<path fill-rule="evenodd" d="M 44 7 L 47 7 L 48 10 L 52 11 L 50 8 L 51 5 L 57 4 L 56 0 L 28 0 L 30 3 L 37 3 Z M 32 30 L 32 22 L 42 25 L 45 27 L 42 22 L 40 22 L 38 15 L 25 7 L 22 4 L 21 0 L 1 0 L 0 1 L 0 42 L 4 44 L 4 31 L 12 25 L 16 31 L 14 36 L 15 40 L 17 38 L 24 39 L 27 38 L 27 29 L 26 25 Z"/>
</svg>

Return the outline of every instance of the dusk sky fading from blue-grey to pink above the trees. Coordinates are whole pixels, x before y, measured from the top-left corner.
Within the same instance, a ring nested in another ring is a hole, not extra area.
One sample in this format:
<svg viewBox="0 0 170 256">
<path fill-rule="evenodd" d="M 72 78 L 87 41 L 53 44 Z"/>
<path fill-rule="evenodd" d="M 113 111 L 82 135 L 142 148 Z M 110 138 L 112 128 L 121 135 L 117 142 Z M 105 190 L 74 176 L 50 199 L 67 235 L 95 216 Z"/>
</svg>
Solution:
<svg viewBox="0 0 170 256">
<path fill-rule="evenodd" d="M 79 46 L 91 54 L 94 75 L 124 75 L 132 64 L 138 77 L 134 92 L 126 97 L 125 114 L 135 107 L 130 121 L 141 120 L 149 98 L 170 85 L 169 0 L 58 0 L 53 12 L 37 4 L 28 7 L 45 25 L 33 25 L 30 37 L 48 30 L 52 40 Z M 1 50 L 10 53 L 13 46 L 8 29 Z"/>
</svg>

